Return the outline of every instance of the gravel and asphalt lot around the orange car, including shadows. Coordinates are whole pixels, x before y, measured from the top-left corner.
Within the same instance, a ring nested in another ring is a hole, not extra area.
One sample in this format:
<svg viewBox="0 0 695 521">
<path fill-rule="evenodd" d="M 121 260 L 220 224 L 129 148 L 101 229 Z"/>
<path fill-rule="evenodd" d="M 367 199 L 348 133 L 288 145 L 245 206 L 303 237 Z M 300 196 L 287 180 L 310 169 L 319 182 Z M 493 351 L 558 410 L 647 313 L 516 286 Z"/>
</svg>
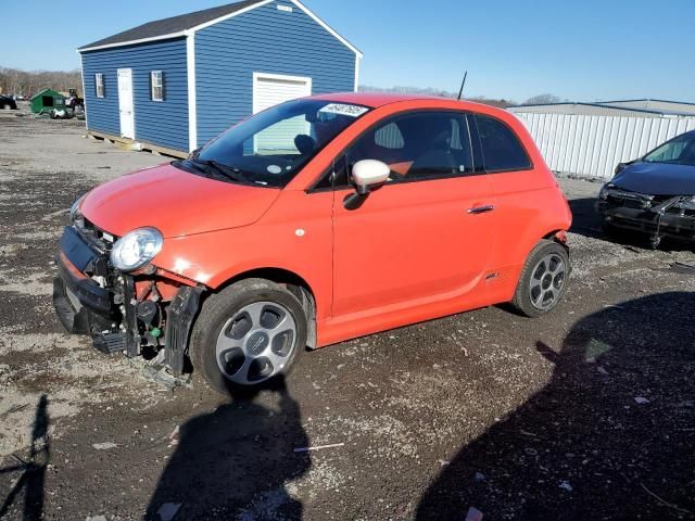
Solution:
<svg viewBox="0 0 695 521">
<path fill-rule="evenodd" d="M 695 517 L 695 275 L 674 264 L 695 255 L 609 242 L 599 185 L 560 180 L 574 270 L 552 315 L 490 307 L 345 342 L 283 391 L 225 403 L 54 317 L 71 203 L 165 160 L 84 134 L 0 111 L 0 518 Z"/>
</svg>

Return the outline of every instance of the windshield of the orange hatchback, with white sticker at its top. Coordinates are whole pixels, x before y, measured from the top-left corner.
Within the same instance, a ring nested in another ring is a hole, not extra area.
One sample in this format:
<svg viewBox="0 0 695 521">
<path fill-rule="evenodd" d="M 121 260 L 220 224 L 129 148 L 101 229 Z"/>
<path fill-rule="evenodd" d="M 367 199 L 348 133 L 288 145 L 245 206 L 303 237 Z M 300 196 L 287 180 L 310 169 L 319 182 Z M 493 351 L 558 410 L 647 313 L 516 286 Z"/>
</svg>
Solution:
<svg viewBox="0 0 695 521">
<path fill-rule="evenodd" d="M 290 101 L 230 128 L 178 166 L 230 182 L 285 187 L 367 112 L 351 103 Z"/>
</svg>

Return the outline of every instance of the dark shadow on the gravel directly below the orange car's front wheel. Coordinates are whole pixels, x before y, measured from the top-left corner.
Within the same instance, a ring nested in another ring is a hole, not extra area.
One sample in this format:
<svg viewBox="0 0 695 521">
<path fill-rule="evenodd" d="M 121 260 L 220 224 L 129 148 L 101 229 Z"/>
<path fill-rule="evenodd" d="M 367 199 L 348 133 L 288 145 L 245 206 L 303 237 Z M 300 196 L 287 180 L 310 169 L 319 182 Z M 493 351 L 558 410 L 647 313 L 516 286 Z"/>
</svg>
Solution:
<svg viewBox="0 0 695 521">
<path fill-rule="evenodd" d="M 308 471 L 308 453 L 294 450 L 308 440 L 285 382 L 275 386 L 278 410 L 245 396 L 181 425 L 146 519 L 166 519 L 166 511 L 176 520 L 302 519 L 286 485 Z"/>
</svg>

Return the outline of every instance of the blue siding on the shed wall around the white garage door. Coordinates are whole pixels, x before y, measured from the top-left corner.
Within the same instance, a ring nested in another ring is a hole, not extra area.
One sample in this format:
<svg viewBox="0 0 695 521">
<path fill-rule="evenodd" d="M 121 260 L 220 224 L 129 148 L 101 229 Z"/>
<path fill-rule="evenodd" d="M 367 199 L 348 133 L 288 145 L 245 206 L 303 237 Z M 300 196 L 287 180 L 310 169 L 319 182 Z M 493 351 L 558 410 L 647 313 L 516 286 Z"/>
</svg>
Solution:
<svg viewBox="0 0 695 521">
<path fill-rule="evenodd" d="M 278 3 L 293 11 L 279 11 Z M 314 94 L 352 91 L 355 53 L 289 2 L 271 2 L 199 30 L 199 145 L 251 114 L 254 72 L 308 76 Z"/>
</svg>

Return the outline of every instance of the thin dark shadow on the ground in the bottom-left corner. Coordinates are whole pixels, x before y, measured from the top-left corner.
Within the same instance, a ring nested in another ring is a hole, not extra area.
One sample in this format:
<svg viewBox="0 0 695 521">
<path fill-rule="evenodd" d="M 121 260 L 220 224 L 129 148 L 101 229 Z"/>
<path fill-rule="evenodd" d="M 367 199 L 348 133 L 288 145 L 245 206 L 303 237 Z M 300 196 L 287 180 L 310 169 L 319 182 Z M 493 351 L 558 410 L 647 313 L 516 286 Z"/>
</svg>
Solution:
<svg viewBox="0 0 695 521">
<path fill-rule="evenodd" d="M 48 397 L 41 395 L 34 415 L 31 446 L 27 460 L 14 456 L 14 463 L 0 469 L 0 475 L 21 472 L 14 486 L 0 505 L 0 519 L 11 513 L 12 506 L 24 496 L 22 517 L 24 521 L 43 519 L 43 490 L 46 468 L 50 461 L 50 440 L 48 436 L 49 416 Z"/>
</svg>

